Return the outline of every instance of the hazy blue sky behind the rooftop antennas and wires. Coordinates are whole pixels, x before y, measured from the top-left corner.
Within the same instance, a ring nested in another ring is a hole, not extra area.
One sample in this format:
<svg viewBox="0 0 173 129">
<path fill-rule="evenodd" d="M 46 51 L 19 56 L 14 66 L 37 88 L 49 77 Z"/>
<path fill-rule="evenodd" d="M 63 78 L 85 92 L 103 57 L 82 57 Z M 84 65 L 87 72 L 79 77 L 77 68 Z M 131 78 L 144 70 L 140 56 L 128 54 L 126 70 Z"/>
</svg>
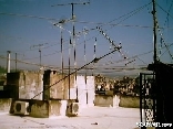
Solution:
<svg viewBox="0 0 173 129">
<path fill-rule="evenodd" d="M 74 3 L 74 20 L 71 19 L 71 3 Z M 172 63 L 173 0 L 156 0 L 155 8 L 157 56 L 163 63 Z M 81 72 L 138 75 L 153 63 L 151 12 L 152 0 L 0 0 L 0 66 L 6 67 L 7 51 L 10 51 L 11 68 L 16 68 L 17 54 L 17 68 L 39 69 L 41 54 L 43 66 L 61 69 L 63 55 L 64 71 L 69 67 L 69 57 L 73 69 L 75 46 L 75 67 L 81 67 L 94 56 L 113 51 L 110 41 L 96 29 L 99 26 L 116 46 L 122 46 L 121 52 L 116 51 Z M 65 23 L 60 24 L 62 20 Z M 75 45 L 69 45 L 70 39 Z"/>
</svg>

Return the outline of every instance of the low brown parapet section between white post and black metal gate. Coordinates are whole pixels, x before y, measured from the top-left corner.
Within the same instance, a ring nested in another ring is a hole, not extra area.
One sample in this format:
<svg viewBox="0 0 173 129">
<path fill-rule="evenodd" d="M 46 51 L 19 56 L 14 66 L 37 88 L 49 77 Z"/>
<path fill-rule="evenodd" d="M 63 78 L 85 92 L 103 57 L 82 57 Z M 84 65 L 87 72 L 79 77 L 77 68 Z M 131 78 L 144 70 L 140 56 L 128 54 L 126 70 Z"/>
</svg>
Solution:
<svg viewBox="0 0 173 129">
<path fill-rule="evenodd" d="M 140 97 L 121 95 L 120 107 L 140 108 Z"/>
</svg>

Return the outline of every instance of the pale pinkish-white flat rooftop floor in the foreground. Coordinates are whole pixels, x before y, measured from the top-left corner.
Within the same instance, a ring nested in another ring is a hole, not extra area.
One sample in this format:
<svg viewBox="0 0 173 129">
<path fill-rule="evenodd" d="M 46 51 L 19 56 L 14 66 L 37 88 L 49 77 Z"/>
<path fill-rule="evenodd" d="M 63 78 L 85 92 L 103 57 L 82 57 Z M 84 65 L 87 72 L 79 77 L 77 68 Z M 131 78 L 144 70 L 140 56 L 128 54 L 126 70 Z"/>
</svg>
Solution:
<svg viewBox="0 0 173 129">
<path fill-rule="evenodd" d="M 55 119 L 0 115 L 0 129 L 139 129 L 136 122 L 140 109 L 121 107 L 90 107 L 79 117 Z"/>
</svg>

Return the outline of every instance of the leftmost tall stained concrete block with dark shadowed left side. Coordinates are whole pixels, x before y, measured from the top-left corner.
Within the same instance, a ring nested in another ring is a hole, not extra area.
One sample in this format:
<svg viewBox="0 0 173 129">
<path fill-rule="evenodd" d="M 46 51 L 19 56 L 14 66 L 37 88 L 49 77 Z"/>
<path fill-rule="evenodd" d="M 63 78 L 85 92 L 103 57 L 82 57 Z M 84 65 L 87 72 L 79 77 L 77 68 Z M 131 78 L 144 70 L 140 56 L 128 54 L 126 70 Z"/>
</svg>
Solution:
<svg viewBox="0 0 173 129">
<path fill-rule="evenodd" d="M 43 90 L 43 74 L 40 72 L 17 72 L 7 74 L 7 87 L 14 99 L 31 99 Z M 42 100 L 42 93 L 34 99 Z"/>
</svg>

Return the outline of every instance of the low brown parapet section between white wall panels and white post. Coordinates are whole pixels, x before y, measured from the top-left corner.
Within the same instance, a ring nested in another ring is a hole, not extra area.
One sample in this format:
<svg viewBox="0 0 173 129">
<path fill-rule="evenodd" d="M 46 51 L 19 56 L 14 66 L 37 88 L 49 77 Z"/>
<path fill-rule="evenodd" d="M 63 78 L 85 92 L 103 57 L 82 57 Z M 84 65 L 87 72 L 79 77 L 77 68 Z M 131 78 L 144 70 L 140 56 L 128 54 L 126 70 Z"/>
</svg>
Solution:
<svg viewBox="0 0 173 129">
<path fill-rule="evenodd" d="M 95 95 L 94 105 L 103 107 L 119 107 L 120 97 L 116 95 Z"/>
</svg>

